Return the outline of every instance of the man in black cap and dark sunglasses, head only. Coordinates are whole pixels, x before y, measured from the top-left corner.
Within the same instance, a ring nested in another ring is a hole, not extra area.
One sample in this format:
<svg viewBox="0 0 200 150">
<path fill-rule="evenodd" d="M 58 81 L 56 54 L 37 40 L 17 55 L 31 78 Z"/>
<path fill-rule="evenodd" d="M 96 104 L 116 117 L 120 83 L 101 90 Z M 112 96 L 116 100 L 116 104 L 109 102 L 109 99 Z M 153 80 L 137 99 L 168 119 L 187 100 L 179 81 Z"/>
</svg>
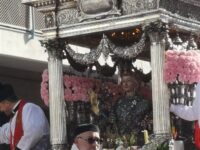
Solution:
<svg viewBox="0 0 200 150">
<path fill-rule="evenodd" d="M 94 124 L 79 125 L 74 131 L 74 144 L 72 150 L 100 150 L 99 127 Z"/>
</svg>

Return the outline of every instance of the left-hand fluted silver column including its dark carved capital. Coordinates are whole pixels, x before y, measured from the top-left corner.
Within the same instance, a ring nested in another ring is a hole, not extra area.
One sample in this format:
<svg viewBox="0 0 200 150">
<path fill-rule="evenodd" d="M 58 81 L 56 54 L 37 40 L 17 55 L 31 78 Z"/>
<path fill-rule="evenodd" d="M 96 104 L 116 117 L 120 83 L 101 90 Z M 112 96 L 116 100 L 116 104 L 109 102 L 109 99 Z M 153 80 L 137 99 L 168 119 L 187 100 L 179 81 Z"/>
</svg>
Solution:
<svg viewBox="0 0 200 150">
<path fill-rule="evenodd" d="M 67 130 L 60 41 L 43 42 L 48 51 L 50 142 L 52 150 L 66 150 Z"/>
</svg>

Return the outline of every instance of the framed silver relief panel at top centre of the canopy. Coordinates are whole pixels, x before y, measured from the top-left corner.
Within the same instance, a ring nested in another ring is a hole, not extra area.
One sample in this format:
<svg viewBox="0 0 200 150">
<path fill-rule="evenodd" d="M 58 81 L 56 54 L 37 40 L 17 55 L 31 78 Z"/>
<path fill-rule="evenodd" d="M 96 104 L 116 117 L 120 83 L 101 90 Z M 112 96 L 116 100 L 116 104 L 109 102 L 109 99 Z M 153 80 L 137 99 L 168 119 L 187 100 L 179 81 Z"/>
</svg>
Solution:
<svg viewBox="0 0 200 150">
<path fill-rule="evenodd" d="M 79 10 L 79 21 L 101 19 L 108 16 L 119 16 L 117 0 L 76 0 Z"/>
</svg>

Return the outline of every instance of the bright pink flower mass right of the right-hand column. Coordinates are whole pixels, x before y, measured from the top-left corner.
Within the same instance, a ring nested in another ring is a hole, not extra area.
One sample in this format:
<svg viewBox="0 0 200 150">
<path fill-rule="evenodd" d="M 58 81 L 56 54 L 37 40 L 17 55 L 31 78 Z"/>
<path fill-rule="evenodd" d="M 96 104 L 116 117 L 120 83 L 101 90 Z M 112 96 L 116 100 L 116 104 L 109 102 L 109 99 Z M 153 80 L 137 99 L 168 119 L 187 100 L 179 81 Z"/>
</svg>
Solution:
<svg viewBox="0 0 200 150">
<path fill-rule="evenodd" d="M 165 53 L 164 79 L 166 83 L 179 81 L 193 84 L 200 81 L 200 52 L 198 50 Z"/>
</svg>

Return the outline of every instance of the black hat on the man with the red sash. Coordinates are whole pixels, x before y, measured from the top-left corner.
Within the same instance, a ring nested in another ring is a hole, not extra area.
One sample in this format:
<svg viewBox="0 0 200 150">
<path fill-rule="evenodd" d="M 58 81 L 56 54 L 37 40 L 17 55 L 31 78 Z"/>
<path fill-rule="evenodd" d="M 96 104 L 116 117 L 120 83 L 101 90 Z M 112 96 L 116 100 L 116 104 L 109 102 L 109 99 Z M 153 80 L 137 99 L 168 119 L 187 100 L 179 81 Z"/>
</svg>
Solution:
<svg viewBox="0 0 200 150">
<path fill-rule="evenodd" d="M 15 98 L 15 92 L 10 84 L 0 83 L 0 102 L 6 98 Z"/>
</svg>

